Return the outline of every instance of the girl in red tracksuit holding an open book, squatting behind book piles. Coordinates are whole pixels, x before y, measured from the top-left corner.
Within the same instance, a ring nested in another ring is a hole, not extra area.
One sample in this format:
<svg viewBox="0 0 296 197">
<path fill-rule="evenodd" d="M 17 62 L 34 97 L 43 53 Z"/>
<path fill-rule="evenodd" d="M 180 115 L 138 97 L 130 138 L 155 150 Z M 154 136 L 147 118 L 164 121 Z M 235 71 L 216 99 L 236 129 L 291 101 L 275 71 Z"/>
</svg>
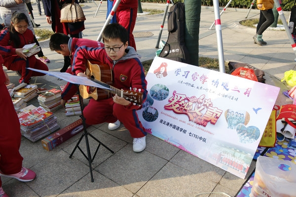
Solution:
<svg viewBox="0 0 296 197">
<path fill-rule="evenodd" d="M 34 34 L 28 29 L 29 21 L 23 12 L 14 12 L 11 16 L 11 25 L 1 31 L 0 53 L 4 59 L 3 65 L 8 70 L 17 71 L 21 78 L 20 83 L 30 83 L 32 76 L 45 75 L 41 72 L 26 69 L 32 67 L 48 71 L 48 67 L 34 55 L 27 57 L 22 48 L 26 44 L 34 43 Z"/>
</svg>

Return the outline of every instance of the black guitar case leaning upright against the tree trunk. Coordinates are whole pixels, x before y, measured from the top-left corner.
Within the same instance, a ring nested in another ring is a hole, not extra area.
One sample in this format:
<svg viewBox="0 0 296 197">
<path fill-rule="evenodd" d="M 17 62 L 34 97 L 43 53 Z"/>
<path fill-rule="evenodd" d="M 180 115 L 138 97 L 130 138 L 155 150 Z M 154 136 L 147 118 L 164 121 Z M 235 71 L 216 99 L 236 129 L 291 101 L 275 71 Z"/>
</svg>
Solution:
<svg viewBox="0 0 296 197">
<path fill-rule="evenodd" d="M 169 36 L 159 57 L 190 64 L 189 52 L 185 46 L 185 6 L 178 2 L 168 13 Z"/>
</svg>

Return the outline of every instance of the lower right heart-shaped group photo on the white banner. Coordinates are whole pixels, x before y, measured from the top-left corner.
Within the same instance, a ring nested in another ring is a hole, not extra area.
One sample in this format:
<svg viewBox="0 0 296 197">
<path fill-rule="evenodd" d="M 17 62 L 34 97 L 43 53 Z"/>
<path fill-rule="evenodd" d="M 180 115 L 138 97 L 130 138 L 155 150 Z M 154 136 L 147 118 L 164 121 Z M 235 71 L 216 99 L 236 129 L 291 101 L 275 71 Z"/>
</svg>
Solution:
<svg viewBox="0 0 296 197">
<path fill-rule="evenodd" d="M 260 131 L 255 126 L 246 127 L 243 124 L 236 126 L 236 133 L 239 138 L 239 141 L 244 144 L 249 144 L 255 142 L 259 136 Z"/>
</svg>

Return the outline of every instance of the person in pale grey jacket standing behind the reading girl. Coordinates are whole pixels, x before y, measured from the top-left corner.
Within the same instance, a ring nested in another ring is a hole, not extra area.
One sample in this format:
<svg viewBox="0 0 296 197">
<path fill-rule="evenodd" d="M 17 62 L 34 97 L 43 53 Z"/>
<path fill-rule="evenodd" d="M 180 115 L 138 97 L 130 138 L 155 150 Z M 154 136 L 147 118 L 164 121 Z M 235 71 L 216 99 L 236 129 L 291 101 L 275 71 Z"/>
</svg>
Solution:
<svg viewBox="0 0 296 197">
<path fill-rule="evenodd" d="M 31 21 L 31 18 L 29 16 L 27 7 L 25 5 L 25 2 L 23 0 L 0 0 L 0 14 L 2 17 L 2 20 L 4 22 L 4 26 L 5 27 L 9 27 L 11 24 L 11 15 L 12 13 L 14 13 L 15 11 L 18 12 L 23 12 L 26 14 L 28 20 L 29 20 L 29 24 L 28 24 L 28 28 L 33 32 L 34 34 L 34 42 L 39 45 L 39 42 L 35 36 L 35 31 L 33 28 L 33 24 Z M 42 49 L 40 47 L 40 52 L 37 54 L 38 58 L 40 61 L 42 61 L 43 63 L 50 63 L 50 60 L 44 56 Z"/>
</svg>

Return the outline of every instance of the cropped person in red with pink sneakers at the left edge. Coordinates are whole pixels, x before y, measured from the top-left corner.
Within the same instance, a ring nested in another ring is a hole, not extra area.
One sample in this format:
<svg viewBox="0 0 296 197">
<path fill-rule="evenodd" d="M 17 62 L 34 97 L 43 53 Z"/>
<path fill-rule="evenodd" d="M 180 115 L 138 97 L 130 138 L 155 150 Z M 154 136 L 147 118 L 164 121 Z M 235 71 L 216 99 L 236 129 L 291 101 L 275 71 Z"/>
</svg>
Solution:
<svg viewBox="0 0 296 197">
<path fill-rule="evenodd" d="M 0 54 L 2 54 L 0 52 Z M 22 182 L 32 181 L 36 173 L 23 167 L 23 157 L 19 152 L 21 146 L 20 121 L 14 110 L 14 106 L 6 85 L 9 78 L 4 72 L 0 56 L 0 197 L 8 197 L 2 189 L 1 176 L 15 178 Z"/>
</svg>

